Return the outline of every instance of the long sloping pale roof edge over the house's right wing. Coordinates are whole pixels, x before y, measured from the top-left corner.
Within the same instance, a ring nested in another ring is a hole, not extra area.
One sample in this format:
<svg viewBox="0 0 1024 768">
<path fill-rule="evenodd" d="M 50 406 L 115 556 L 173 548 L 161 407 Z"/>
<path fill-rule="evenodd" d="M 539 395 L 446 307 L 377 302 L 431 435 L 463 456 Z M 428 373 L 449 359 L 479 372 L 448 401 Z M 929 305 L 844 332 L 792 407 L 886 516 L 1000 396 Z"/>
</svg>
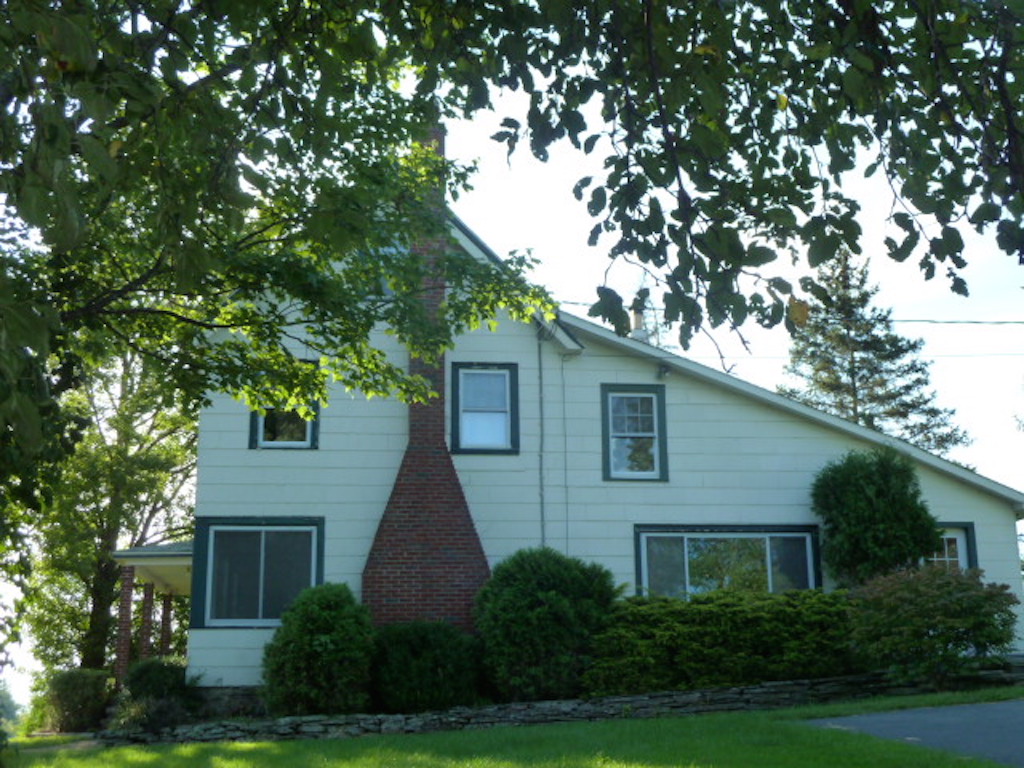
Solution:
<svg viewBox="0 0 1024 768">
<path fill-rule="evenodd" d="M 1024 518 L 1024 493 L 996 482 L 984 475 L 980 475 L 959 464 L 941 459 L 897 437 L 877 432 L 873 429 L 862 427 L 846 419 L 841 419 L 838 416 L 810 408 L 776 392 L 751 384 L 742 379 L 716 371 L 699 362 L 694 362 L 669 350 L 651 346 L 646 342 L 636 339 L 618 336 L 602 326 L 566 312 L 559 311 L 557 325 L 561 326 L 570 338 L 578 341 L 582 340 L 584 345 L 588 338 L 594 339 L 595 341 L 613 346 L 625 354 L 646 357 L 655 366 L 667 366 L 670 371 L 722 387 L 742 397 L 748 397 L 770 408 L 786 412 L 795 418 L 815 422 L 864 442 L 879 446 L 895 447 L 907 454 L 919 464 L 1007 501 L 1013 506 L 1018 519 Z"/>
</svg>

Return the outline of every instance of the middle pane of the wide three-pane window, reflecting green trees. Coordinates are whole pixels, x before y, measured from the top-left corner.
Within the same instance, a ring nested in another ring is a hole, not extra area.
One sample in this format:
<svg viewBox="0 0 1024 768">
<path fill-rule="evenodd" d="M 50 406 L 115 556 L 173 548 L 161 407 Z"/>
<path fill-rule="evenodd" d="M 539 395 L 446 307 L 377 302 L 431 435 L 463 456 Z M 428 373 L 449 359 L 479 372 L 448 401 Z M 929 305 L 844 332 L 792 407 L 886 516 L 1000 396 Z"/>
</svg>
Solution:
<svg viewBox="0 0 1024 768">
<path fill-rule="evenodd" d="M 689 591 L 768 591 L 764 539 L 687 538 Z"/>
</svg>

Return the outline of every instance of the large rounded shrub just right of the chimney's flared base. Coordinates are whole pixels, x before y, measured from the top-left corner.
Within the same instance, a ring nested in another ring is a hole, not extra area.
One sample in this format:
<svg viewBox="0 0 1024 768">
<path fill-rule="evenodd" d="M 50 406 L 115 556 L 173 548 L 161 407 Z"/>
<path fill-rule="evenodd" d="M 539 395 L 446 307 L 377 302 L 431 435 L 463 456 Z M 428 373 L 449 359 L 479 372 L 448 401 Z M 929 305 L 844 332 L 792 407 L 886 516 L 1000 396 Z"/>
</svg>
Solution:
<svg viewBox="0 0 1024 768">
<path fill-rule="evenodd" d="M 553 549 L 500 563 L 480 590 L 476 627 L 484 670 L 502 698 L 575 696 L 618 592 L 611 572 Z"/>
</svg>

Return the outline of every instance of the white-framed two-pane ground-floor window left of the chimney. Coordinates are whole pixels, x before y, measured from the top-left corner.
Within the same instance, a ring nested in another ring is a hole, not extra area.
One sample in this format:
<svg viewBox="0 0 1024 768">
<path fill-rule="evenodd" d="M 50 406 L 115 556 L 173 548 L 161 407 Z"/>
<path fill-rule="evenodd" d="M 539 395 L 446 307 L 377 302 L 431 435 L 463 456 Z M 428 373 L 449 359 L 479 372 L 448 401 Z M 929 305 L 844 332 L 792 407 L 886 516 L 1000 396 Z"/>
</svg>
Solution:
<svg viewBox="0 0 1024 768">
<path fill-rule="evenodd" d="M 207 626 L 274 626 L 316 581 L 316 527 L 212 525 Z"/>
</svg>

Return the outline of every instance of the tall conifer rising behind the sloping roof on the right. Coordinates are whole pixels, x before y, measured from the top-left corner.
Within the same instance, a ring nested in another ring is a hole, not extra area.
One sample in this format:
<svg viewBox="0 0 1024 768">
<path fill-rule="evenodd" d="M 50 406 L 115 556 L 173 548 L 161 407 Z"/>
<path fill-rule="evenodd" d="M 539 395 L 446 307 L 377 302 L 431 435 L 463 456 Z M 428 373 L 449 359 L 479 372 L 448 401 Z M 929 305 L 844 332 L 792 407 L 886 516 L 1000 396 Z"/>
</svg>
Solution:
<svg viewBox="0 0 1024 768">
<path fill-rule="evenodd" d="M 954 412 L 935 404 L 931 364 L 918 357 L 924 340 L 893 331 L 892 310 L 873 306 L 878 288 L 867 280 L 867 265 L 849 253 L 821 268 L 824 294 L 794 334 L 785 368 L 804 386 L 779 391 L 940 456 L 968 444 Z"/>
</svg>

